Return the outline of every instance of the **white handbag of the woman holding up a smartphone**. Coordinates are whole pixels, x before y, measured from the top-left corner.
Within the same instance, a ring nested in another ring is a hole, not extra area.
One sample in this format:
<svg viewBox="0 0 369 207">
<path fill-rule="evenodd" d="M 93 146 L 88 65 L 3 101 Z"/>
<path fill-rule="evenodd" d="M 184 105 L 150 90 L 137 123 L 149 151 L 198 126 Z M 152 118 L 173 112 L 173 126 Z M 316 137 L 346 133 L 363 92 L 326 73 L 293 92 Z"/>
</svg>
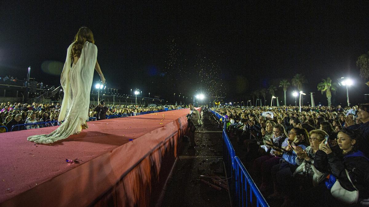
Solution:
<svg viewBox="0 0 369 207">
<path fill-rule="evenodd" d="M 350 180 L 352 186 L 356 189 L 354 183 L 352 183 L 350 176 L 348 175 L 348 171 L 345 169 L 348 180 Z M 341 184 L 339 184 L 338 180 L 333 184 L 331 188 L 331 194 L 337 200 L 343 201 L 347 204 L 354 204 L 358 202 L 359 199 L 359 191 L 358 189 L 354 191 L 348 191 L 344 189 Z"/>
</svg>

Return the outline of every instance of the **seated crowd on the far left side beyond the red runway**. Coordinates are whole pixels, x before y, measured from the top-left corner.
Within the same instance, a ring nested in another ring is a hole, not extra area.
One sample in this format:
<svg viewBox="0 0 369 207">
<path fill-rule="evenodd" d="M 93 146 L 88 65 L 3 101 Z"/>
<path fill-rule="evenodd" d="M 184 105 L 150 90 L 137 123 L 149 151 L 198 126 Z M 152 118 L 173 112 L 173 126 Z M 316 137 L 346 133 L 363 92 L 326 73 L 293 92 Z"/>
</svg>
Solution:
<svg viewBox="0 0 369 207">
<path fill-rule="evenodd" d="M 96 120 L 98 112 L 97 107 L 98 105 L 90 105 L 88 114 L 89 120 L 86 121 Z M 104 105 L 104 107 L 107 109 L 106 117 L 101 119 L 135 116 L 152 111 L 179 109 L 184 106 Z M 0 126 L 6 126 L 8 131 L 58 126 L 61 124 L 61 122 L 58 122 L 60 108 L 61 104 L 59 103 L 1 103 Z M 16 126 L 19 124 L 25 125 Z M 11 130 L 12 127 L 13 130 Z M 3 132 L 6 132 L 6 129 L 0 127 L 0 133 Z"/>
</svg>

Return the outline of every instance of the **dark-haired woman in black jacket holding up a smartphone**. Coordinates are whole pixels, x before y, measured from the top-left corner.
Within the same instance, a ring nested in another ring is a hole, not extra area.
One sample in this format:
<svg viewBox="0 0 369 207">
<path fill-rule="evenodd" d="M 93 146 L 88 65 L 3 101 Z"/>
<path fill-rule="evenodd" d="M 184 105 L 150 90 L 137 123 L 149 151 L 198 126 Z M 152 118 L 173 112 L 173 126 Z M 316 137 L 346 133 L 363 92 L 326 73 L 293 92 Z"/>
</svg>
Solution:
<svg viewBox="0 0 369 207">
<path fill-rule="evenodd" d="M 324 140 L 319 145 L 319 150 L 315 154 L 314 166 L 320 172 L 327 172 L 335 176 L 339 184 L 346 190 L 359 191 L 359 201 L 368 198 L 369 190 L 369 158 L 358 150 L 361 133 L 359 130 L 342 129 L 337 135 L 339 148 L 332 150 L 329 144 L 324 144 Z M 352 183 L 347 177 L 346 170 Z M 316 204 L 321 206 L 341 206 L 344 205 L 335 199 L 325 185 L 320 185 L 315 195 Z"/>
</svg>

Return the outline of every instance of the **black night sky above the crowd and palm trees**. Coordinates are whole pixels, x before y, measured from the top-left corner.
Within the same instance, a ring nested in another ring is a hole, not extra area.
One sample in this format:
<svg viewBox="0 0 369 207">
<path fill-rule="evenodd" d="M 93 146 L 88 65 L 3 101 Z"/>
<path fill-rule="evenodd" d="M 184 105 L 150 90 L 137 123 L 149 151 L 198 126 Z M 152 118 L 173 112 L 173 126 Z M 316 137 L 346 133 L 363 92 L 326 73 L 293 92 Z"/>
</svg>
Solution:
<svg viewBox="0 0 369 207">
<path fill-rule="evenodd" d="M 107 87 L 122 94 L 139 88 L 168 101 L 199 92 L 242 101 L 301 73 L 317 104 L 327 104 L 317 91 L 321 79 L 342 76 L 355 81 L 352 103 L 369 102 L 355 65 L 369 50 L 369 1 L 91 2 L 1 1 L 0 77 L 23 80 L 31 66 L 31 77 L 58 85 L 66 49 L 86 26 Z M 293 90 L 287 104 L 294 104 Z M 276 94 L 282 101 L 282 88 Z M 332 103 L 345 102 L 339 87 Z"/>
</svg>

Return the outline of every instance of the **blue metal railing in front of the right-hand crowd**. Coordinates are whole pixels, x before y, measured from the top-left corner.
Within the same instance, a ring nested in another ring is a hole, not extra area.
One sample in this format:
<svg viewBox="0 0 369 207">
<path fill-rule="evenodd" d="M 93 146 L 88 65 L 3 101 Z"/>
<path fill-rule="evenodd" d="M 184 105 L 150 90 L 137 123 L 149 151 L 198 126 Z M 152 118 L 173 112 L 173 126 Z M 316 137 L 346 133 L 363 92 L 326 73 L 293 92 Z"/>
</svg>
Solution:
<svg viewBox="0 0 369 207">
<path fill-rule="evenodd" d="M 223 125 L 223 161 L 228 179 L 228 186 L 231 193 L 232 206 L 269 206 L 265 198 L 256 187 L 254 180 L 247 172 L 245 166 L 236 156 L 234 148 L 228 138 L 226 127 L 227 119 L 219 113 L 211 110 L 219 119 L 222 118 Z M 255 198 L 255 199 L 254 199 Z"/>
</svg>

